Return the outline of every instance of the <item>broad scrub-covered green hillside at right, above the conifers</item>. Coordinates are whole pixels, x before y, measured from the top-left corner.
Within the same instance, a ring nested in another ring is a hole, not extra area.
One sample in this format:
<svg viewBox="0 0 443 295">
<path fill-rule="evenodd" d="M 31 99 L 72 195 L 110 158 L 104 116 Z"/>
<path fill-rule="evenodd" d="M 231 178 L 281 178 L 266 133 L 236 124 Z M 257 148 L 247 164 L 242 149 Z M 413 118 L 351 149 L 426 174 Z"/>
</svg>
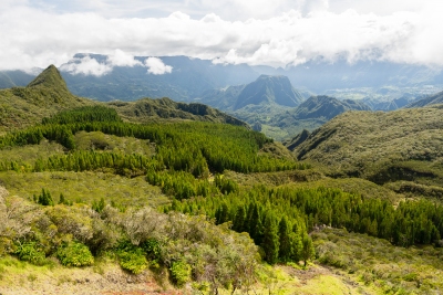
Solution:
<svg viewBox="0 0 443 295">
<path fill-rule="evenodd" d="M 439 106 L 390 113 L 347 112 L 313 131 L 295 155 L 329 166 L 332 176 L 440 187 L 442 116 Z"/>
</svg>

